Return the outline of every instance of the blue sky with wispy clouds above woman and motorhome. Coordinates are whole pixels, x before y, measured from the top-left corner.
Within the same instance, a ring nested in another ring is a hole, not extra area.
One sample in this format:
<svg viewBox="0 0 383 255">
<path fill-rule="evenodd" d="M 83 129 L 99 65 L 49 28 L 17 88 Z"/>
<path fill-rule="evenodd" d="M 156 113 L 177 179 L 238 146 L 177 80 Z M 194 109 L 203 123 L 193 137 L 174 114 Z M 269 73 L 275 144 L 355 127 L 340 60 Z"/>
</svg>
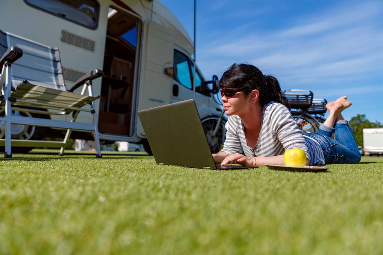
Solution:
<svg viewBox="0 0 383 255">
<path fill-rule="evenodd" d="M 162 0 L 193 38 L 193 0 Z M 345 119 L 383 123 L 383 1 L 197 0 L 197 65 L 206 79 L 248 62 L 334 101 Z"/>
</svg>

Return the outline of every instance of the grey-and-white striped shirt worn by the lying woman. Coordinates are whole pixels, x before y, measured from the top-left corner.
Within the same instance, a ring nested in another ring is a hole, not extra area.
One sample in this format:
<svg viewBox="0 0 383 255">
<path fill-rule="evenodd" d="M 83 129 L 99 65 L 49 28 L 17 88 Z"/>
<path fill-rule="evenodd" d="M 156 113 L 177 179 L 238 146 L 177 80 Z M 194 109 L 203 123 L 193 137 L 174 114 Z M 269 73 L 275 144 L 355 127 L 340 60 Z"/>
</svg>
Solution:
<svg viewBox="0 0 383 255">
<path fill-rule="evenodd" d="M 302 135 L 290 111 L 280 103 L 271 101 L 264 105 L 259 137 L 254 147 L 247 145 L 244 126 L 239 116 L 229 116 L 225 127 L 226 139 L 222 149 L 224 152 L 234 154 L 242 147 L 247 157 L 271 157 L 282 155 L 285 150 L 294 147 L 304 151 L 310 165 L 324 164 L 321 145 Z"/>
</svg>

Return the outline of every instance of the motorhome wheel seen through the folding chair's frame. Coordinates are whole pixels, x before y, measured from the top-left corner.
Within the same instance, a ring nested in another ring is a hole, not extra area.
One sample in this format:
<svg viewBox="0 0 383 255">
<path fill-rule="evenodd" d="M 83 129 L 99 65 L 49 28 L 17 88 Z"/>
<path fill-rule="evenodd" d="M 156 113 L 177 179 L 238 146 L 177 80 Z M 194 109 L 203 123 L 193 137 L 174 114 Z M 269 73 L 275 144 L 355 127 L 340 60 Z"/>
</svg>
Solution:
<svg viewBox="0 0 383 255">
<path fill-rule="evenodd" d="M 48 118 L 43 114 L 31 114 L 28 112 L 12 111 L 12 115 Z M 5 110 L 0 110 L 0 139 L 5 139 Z M 41 140 L 44 137 L 44 127 L 11 124 L 11 139 Z M 12 147 L 12 153 L 28 153 L 34 147 Z M 5 152 L 5 147 L 0 146 L 0 152 Z"/>
</svg>

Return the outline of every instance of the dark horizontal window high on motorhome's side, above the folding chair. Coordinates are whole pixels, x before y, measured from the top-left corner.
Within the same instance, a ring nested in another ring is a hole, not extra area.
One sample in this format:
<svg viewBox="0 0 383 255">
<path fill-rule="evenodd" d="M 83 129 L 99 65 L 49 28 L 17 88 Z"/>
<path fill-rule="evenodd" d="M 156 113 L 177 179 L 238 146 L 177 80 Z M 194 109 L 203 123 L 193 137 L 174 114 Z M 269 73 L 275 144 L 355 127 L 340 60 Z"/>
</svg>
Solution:
<svg viewBox="0 0 383 255">
<path fill-rule="evenodd" d="M 72 21 L 82 26 L 97 28 L 98 10 L 96 0 L 24 0 L 32 7 Z"/>
</svg>

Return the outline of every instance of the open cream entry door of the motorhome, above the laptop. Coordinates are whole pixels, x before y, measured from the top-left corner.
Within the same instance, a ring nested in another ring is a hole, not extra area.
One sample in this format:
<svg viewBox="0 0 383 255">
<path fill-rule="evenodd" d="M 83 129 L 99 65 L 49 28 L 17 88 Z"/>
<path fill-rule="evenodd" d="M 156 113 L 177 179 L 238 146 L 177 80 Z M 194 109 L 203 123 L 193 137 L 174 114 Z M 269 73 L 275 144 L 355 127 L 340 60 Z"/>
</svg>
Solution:
<svg viewBox="0 0 383 255">
<path fill-rule="evenodd" d="M 173 67 L 173 30 L 152 21 L 145 22 L 143 27 L 146 29 L 146 39 L 142 52 L 139 110 L 170 104 L 173 79 L 164 73 L 166 67 Z M 139 120 L 137 134 L 145 136 Z"/>
</svg>

